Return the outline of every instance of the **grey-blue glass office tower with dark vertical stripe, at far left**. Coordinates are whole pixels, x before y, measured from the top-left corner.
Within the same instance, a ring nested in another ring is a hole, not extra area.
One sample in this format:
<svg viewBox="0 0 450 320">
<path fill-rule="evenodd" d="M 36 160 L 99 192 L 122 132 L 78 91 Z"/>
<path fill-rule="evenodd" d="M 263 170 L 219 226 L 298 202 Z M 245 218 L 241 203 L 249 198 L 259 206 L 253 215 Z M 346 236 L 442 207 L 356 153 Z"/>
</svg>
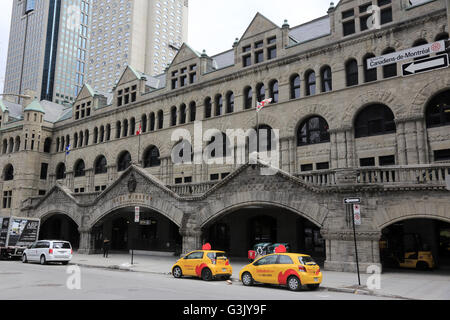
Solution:
<svg viewBox="0 0 450 320">
<path fill-rule="evenodd" d="M 14 0 L 4 93 L 73 102 L 85 79 L 90 0 Z"/>
</svg>

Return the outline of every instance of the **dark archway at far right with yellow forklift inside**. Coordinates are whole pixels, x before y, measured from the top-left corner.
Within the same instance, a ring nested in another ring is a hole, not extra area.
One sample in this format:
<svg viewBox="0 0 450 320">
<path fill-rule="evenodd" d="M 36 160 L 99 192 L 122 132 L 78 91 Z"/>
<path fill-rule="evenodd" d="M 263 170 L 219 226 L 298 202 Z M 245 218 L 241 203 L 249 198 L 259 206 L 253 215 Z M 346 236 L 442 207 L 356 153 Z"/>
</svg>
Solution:
<svg viewBox="0 0 450 320">
<path fill-rule="evenodd" d="M 406 219 L 382 230 L 380 259 L 384 268 L 450 271 L 450 223 L 437 219 Z"/>
</svg>

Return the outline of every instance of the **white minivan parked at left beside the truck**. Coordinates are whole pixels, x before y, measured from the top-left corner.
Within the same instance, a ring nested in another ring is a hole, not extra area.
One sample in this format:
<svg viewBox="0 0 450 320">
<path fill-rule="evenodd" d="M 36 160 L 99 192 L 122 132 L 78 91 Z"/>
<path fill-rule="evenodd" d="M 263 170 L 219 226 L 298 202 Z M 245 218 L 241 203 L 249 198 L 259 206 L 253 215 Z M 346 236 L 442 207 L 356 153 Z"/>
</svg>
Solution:
<svg viewBox="0 0 450 320">
<path fill-rule="evenodd" d="M 39 240 L 22 255 L 22 262 L 37 261 L 44 265 L 48 262 L 61 262 L 66 265 L 72 259 L 72 246 L 70 242 L 62 240 Z"/>
</svg>

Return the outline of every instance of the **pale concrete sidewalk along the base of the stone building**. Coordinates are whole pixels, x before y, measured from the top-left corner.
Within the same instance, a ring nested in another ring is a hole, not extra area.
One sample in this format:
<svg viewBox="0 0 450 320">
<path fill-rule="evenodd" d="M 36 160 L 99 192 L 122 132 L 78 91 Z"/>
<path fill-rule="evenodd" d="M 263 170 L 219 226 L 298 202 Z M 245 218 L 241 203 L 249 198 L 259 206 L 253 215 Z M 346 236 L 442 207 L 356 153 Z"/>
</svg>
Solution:
<svg viewBox="0 0 450 320">
<path fill-rule="evenodd" d="M 131 255 L 110 254 L 108 259 L 102 255 L 81 255 L 75 253 L 72 264 L 83 267 L 108 268 L 114 270 L 146 272 L 154 274 L 170 274 L 177 257 L 159 257 L 135 255 L 131 265 Z M 233 281 L 239 281 L 239 271 L 248 262 L 246 259 L 231 258 Z M 361 284 L 366 285 L 370 275 L 361 274 Z M 321 288 L 330 291 L 354 294 L 369 294 L 382 297 L 425 300 L 450 300 L 450 272 L 415 270 L 389 270 L 381 275 L 381 289 L 370 291 L 365 287 L 358 288 L 356 273 L 323 271 Z"/>
</svg>

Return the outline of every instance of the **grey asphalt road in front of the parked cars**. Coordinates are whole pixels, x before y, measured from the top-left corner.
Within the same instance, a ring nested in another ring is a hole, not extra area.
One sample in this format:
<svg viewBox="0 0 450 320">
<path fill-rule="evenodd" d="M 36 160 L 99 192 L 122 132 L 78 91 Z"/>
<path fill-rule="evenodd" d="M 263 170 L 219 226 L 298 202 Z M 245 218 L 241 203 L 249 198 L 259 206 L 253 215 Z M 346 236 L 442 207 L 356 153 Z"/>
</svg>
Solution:
<svg viewBox="0 0 450 320">
<path fill-rule="evenodd" d="M 204 282 L 175 279 L 171 275 L 80 268 L 79 290 L 68 267 L 0 261 L 0 300 L 377 300 L 381 298 L 348 293 L 318 291 L 290 292 L 285 288 L 240 282 Z"/>
</svg>

